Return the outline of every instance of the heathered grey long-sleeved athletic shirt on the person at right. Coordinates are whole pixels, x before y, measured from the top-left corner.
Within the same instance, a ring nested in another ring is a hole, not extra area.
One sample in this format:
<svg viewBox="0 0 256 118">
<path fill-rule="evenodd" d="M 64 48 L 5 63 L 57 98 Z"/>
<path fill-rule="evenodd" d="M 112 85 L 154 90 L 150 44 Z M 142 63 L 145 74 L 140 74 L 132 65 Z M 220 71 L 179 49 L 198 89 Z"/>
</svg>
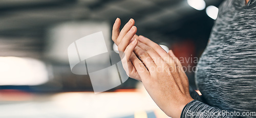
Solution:
<svg viewBox="0 0 256 118">
<path fill-rule="evenodd" d="M 247 5 L 245 0 L 227 0 L 220 5 L 197 65 L 202 96 L 189 102 L 181 117 L 256 117 L 255 6 L 256 0 Z"/>
</svg>

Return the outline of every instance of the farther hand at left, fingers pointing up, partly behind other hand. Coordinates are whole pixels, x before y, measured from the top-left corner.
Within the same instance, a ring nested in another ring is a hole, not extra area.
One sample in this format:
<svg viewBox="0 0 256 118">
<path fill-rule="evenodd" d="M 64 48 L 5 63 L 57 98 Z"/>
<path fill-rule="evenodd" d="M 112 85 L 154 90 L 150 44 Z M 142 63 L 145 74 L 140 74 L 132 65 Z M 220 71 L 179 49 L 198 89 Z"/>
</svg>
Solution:
<svg viewBox="0 0 256 118">
<path fill-rule="evenodd" d="M 112 40 L 118 45 L 118 51 L 126 74 L 130 78 L 141 81 L 141 78 L 134 67 L 134 63 L 141 63 L 133 52 L 138 43 L 138 35 L 136 35 L 137 28 L 134 24 L 134 19 L 130 19 L 120 32 L 119 28 L 121 20 L 117 18 L 113 25 Z"/>
</svg>

